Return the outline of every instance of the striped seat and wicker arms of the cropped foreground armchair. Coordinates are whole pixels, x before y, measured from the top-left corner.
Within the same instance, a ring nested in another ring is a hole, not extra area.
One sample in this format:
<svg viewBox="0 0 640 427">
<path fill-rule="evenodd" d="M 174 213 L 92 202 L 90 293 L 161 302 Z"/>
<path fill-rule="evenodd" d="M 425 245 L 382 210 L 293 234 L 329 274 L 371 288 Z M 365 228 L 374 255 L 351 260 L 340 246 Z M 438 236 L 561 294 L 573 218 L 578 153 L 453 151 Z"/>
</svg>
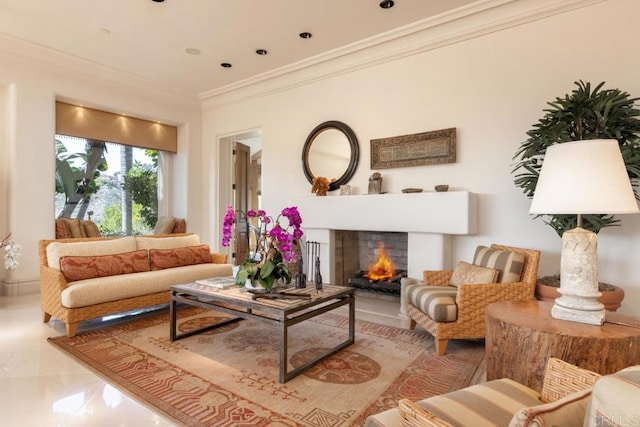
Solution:
<svg viewBox="0 0 640 427">
<path fill-rule="evenodd" d="M 500 379 L 418 403 L 402 399 L 398 404 L 400 425 L 451 427 L 470 425 L 468 420 L 473 420 L 474 425 L 582 426 L 591 388 L 599 379 L 600 375 L 596 373 L 550 358 L 545 370 L 544 388 L 532 406 L 517 407 L 512 402 L 517 393 L 508 395 L 508 398 L 504 394 L 509 390 L 511 380 Z M 479 388 L 489 390 L 482 394 L 483 404 L 480 406 L 474 405 L 472 397 Z M 534 390 L 529 391 L 537 395 Z M 499 421 L 499 417 L 506 422 Z"/>
</svg>

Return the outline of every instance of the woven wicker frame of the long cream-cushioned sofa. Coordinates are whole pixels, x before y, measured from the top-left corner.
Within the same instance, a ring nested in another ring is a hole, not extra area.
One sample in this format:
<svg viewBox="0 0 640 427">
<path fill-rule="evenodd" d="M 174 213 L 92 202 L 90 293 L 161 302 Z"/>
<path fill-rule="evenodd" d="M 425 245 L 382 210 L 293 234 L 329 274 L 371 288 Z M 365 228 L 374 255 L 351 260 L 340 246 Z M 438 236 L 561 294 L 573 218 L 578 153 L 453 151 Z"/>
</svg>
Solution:
<svg viewBox="0 0 640 427">
<path fill-rule="evenodd" d="M 189 234 L 170 234 L 145 236 L 153 238 L 188 236 Z M 147 295 L 135 296 L 131 298 L 118 299 L 85 307 L 68 308 L 62 304 L 62 292 L 69 286 L 65 276 L 59 269 L 51 268 L 47 260 L 47 246 L 53 242 L 74 243 L 74 242 L 100 242 L 115 239 L 112 237 L 81 238 L 81 239 L 56 239 L 41 240 L 38 246 L 40 262 L 40 304 L 43 313 L 43 321 L 49 322 L 51 317 L 55 317 L 66 324 L 67 335 L 76 335 L 78 325 L 81 321 L 95 319 L 109 314 L 125 312 L 137 308 L 144 308 L 158 304 L 168 304 L 170 301 L 169 288 L 162 292 L 154 292 Z M 214 264 L 226 264 L 227 256 L 224 254 L 212 254 Z M 228 265 L 228 264 L 226 264 Z M 224 270 L 226 272 L 226 269 Z M 144 273 L 133 273 L 144 274 Z M 228 273 L 231 274 L 231 265 L 228 265 Z M 201 277 L 205 278 L 205 277 Z M 176 282 L 174 284 L 178 284 Z"/>
</svg>

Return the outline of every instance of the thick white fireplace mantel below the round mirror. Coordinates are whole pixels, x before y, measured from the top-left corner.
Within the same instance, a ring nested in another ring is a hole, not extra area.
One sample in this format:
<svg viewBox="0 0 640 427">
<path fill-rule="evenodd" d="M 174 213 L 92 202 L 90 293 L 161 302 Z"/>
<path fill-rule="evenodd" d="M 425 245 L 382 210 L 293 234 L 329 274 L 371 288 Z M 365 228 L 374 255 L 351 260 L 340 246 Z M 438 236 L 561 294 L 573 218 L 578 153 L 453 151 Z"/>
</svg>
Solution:
<svg viewBox="0 0 640 427">
<path fill-rule="evenodd" d="M 476 197 L 467 191 L 299 199 L 304 229 L 475 234 Z"/>
</svg>

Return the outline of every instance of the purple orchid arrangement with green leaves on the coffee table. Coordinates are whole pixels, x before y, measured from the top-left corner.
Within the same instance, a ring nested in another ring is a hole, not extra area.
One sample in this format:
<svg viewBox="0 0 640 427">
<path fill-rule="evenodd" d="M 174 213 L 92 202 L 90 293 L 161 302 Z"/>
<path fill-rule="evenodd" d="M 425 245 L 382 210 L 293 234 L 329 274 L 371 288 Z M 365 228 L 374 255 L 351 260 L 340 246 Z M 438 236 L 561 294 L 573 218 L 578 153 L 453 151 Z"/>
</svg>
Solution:
<svg viewBox="0 0 640 427">
<path fill-rule="evenodd" d="M 253 286 L 259 285 L 270 290 L 278 282 L 291 283 L 291 272 L 286 262 L 298 261 L 294 244 L 304 235 L 298 208 L 284 208 L 275 221 L 262 209 L 249 210 L 244 215 L 247 220 L 254 219 L 257 222 L 255 253 L 259 259 L 249 258 L 239 266 L 236 284 L 244 285 L 249 279 Z M 228 206 L 222 225 L 222 246 L 230 245 L 235 222 L 236 211 Z"/>
</svg>

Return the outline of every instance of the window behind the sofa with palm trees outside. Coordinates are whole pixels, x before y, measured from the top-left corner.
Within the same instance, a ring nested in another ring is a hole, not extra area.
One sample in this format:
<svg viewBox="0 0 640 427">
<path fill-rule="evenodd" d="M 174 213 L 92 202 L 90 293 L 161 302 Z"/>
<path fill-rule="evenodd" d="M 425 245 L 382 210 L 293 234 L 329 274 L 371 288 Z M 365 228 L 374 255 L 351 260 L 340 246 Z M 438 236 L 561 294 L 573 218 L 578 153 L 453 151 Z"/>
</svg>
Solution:
<svg viewBox="0 0 640 427">
<path fill-rule="evenodd" d="M 90 219 L 103 236 L 150 234 L 157 150 L 56 135 L 55 217 Z"/>
</svg>

